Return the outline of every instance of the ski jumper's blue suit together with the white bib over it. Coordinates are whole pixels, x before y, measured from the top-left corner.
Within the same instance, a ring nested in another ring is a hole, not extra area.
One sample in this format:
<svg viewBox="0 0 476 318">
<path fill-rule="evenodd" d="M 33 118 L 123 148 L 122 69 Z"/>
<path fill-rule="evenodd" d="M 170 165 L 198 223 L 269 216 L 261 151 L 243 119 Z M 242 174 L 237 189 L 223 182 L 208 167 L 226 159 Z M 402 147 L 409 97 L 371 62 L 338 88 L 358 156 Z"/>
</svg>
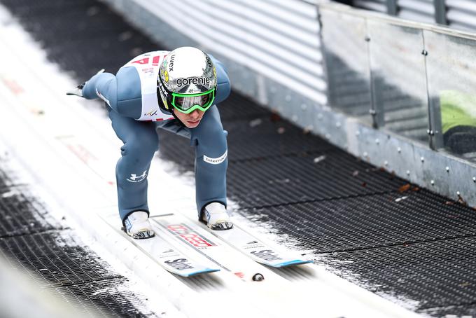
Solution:
<svg viewBox="0 0 476 318">
<path fill-rule="evenodd" d="M 147 177 L 155 151 L 159 149 L 157 129 L 169 130 L 190 139 L 195 146 L 195 195 L 200 219 L 202 208 L 210 202 L 226 206 L 228 147 L 216 104 L 230 95 L 230 80 L 221 62 L 211 57 L 216 67 L 218 87 L 215 104 L 195 128 L 188 128 L 172 113 L 158 106 L 157 75 L 168 51 L 155 51 L 135 57 L 114 76 L 92 76 L 83 87 L 83 97 L 103 99 L 109 106 L 113 130 L 123 146 L 116 165 L 118 206 L 124 222 L 135 211 L 149 212 Z M 164 193 L 174 191 L 165 186 Z"/>
</svg>

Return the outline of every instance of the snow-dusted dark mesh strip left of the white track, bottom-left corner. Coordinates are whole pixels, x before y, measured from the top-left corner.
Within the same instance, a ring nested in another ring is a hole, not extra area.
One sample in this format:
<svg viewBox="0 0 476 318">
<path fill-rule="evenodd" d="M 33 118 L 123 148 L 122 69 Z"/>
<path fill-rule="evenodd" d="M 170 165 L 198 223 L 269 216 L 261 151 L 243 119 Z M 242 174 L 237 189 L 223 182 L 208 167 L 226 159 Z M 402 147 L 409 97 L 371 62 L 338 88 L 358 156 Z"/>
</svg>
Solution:
<svg viewBox="0 0 476 318">
<path fill-rule="evenodd" d="M 15 174 L 5 160 L 0 170 L 5 175 L 3 169 Z M 0 256 L 41 288 L 79 302 L 83 312 L 155 317 L 146 310 L 144 297 L 128 291 L 127 279 L 52 219 L 27 186 L 1 188 Z"/>
</svg>

